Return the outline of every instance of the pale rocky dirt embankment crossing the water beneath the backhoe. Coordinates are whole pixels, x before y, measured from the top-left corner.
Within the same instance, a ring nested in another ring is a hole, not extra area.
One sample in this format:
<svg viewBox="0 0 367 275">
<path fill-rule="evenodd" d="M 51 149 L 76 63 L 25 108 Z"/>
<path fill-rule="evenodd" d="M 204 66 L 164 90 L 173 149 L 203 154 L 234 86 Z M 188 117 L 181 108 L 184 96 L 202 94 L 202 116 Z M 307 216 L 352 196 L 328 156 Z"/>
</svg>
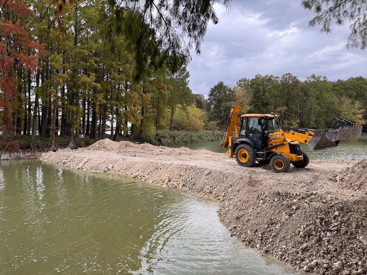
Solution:
<svg viewBox="0 0 367 275">
<path fill-rule="evenodd" d="M 41 159 L 217 199 L 219 219 L 246 245 L 316 274 L 367 274 L 367 160 L 318 160 L 274 173 L 207 150 L 108 139 Z"/>
</svg>

